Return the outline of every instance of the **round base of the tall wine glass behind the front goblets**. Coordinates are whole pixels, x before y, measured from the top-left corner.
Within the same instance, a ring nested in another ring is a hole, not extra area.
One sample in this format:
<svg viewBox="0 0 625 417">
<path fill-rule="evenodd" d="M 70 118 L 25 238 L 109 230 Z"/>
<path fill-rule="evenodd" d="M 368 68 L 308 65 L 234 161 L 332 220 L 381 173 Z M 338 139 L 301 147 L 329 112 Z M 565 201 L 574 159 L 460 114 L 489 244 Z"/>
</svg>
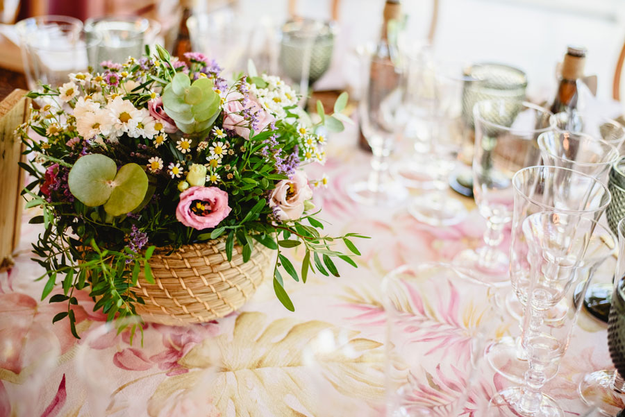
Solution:
<svg viewBox="0 0 625 417">
<path fill-rule="evenodd" d="M 470 275 L 476 280 L 494 285 L 509 285 L 510 275 L 508 267 L 510 259 L 506 253 L 497 250 L 492 252 L 490 261 L 483 262 L 483 253 L 487 248 L 462 250 L 453 258 L 453 264 L 465 267 L 471 271 Z"/>
</svg>

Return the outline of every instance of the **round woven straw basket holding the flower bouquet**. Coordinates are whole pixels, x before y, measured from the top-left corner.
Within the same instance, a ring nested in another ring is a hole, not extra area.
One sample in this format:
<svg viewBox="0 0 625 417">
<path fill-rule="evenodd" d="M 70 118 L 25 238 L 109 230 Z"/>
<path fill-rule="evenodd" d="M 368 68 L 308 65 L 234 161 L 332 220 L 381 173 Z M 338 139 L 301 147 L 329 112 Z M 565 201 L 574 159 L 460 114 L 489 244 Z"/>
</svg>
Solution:
<svg viewBox="0 0 625 417">
<path fill-rule="evenodd" d="M 226 257 L 224 237 L 202 244 L 156 248 L 149 264 L 154 284 L 139 274 L 138 295 L 145 305 L 135 305 L 145 321 L 167 325 L 203 323 L 226 316 L 253 295 L 272 273 L 273 251 L 257 244 L 248 262 L 235 246 L 232 260 Z"/>
</svg>

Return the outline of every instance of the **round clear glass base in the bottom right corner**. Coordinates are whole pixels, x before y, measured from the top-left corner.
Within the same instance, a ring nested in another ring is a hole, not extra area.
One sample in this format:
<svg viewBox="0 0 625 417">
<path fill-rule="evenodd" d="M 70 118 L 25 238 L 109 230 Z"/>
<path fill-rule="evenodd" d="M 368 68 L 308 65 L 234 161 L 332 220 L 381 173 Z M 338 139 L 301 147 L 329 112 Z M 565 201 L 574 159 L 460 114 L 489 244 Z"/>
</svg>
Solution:
<svg viewBox="0 0 625 417">
<path fill-rule="evenodd" d="M 614 371 L 596 371 L 584 375 L 577 386 L 579 396 L 587 405 L 597 407 L 604 416 L 616 416 L 625 408 L 625 393 L 614 391 L 611 386 Z"/>
</svg>

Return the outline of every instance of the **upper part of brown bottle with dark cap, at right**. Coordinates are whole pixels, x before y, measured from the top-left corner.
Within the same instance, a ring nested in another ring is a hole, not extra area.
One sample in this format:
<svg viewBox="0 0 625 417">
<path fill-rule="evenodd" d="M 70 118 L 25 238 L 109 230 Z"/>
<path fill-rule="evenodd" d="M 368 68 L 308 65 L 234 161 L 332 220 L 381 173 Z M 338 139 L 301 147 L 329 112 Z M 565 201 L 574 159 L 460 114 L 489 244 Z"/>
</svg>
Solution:
<svg viewBox="0 0 625 417">
<path fill-rule="evenodd" d="M 562 62 L 560 71 L 560 84 L 556 99 L 551 105 L 553 114 L 559 112 L 572 112 L 579 106 L 578 83 L 582 83 L 584 75 L 584 64 L 586 59 L 586 49 L 578 46 L 569 46 Z"/>
</svg>

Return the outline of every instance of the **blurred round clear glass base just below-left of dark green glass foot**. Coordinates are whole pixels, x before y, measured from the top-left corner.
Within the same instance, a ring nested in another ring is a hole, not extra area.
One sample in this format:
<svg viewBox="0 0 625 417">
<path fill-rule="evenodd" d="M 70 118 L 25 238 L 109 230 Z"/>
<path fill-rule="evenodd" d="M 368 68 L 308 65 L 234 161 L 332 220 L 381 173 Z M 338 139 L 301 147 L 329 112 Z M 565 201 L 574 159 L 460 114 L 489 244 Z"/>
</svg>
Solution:
<svg viewBox="0 0 625 417">
<path fill-rule="evenodd" d="M 422 223 L 433 226 L 451 226 L 460 223 L 467 217 L 464 204 L 453 198 L 432 192 L 414 198 L 408 211 Z"/>
</svg>

